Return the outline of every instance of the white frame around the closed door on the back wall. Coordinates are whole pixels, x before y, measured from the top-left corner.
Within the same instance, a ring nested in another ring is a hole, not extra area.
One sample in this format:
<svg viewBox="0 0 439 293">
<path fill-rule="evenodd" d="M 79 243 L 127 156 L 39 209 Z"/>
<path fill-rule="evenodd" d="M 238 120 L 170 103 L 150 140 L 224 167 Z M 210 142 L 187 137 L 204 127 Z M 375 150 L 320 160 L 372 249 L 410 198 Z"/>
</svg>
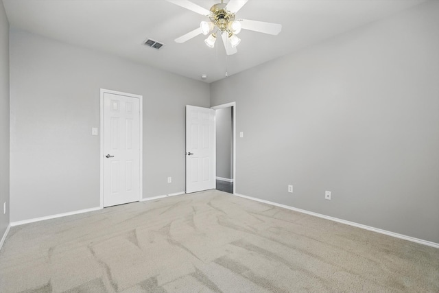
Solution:
<svg viewBox="0 0 439 293">
<path fill-rule="evenodd" d="M 100 207 L 104 209 L 104 95 L 106 93 L 112 93 L 114 95 L 123 95 L 126 97 L 134 97 L 134 99 L 139 99 L 139 201 L 142 200 L 143 196 L 143 95 L 134 95 L 133 93 L 123 93 L 121 91 L 112 91 L 109 89 L 101 89 L 100 97 L 100 125 L 99 125 L 99 135 L 101 139 L 101 150 L 99 152 L 100 156 Z"/>
</svg>

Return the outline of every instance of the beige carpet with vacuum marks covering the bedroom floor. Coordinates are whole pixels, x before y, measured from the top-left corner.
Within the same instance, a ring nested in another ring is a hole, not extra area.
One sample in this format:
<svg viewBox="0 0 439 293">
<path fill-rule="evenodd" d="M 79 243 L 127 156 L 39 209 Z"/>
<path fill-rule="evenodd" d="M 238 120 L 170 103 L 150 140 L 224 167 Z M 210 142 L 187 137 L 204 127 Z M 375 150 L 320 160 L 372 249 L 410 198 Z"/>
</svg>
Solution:
<svg viewBox="0 0 439 293">
<path fill-rule="evenodd" d="M 13 227 L 0 292 L 439 292 L 439 249 L 213 190 Z"/>
</svg>

